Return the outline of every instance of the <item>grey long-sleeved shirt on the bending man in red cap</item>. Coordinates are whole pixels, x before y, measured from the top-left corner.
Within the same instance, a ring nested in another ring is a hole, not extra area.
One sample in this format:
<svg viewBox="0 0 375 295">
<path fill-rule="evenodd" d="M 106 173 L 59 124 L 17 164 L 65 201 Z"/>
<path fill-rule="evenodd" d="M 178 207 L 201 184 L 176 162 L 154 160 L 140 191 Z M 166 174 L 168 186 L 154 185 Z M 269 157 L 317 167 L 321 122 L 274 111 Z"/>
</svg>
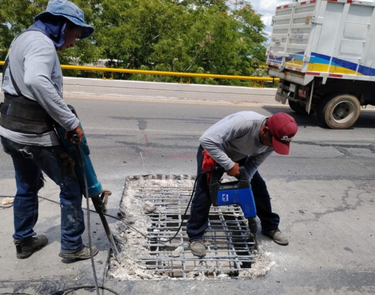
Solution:
<svg viewBox="0 0 375 295">
<path fill-rule="evenodd" d="M 259 131 L 267 117 L 254 111 L 231 114 L 207 129 L 199 138 L 202 147 L 225 170 L 249 156 L 245 167 L 252 178 L 258 167 L 273 152 L 260 142 Z"/>
</svg>

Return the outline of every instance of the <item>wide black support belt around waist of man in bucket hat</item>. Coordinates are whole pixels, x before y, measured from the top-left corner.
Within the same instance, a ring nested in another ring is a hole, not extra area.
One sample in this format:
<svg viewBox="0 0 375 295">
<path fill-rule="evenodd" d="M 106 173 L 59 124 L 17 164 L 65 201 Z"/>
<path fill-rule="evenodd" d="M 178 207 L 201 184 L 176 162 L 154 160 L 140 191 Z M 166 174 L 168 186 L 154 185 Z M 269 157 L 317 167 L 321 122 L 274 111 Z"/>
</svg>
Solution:
<svg viewBox="0 0 375 295">
<path fill-rule="evenodd" d="M 5 93 L 0 104 L 0 126 L 26 134 L 42 134 L 54 130 L 54 120 L 36 101 Z"/>
</svg>

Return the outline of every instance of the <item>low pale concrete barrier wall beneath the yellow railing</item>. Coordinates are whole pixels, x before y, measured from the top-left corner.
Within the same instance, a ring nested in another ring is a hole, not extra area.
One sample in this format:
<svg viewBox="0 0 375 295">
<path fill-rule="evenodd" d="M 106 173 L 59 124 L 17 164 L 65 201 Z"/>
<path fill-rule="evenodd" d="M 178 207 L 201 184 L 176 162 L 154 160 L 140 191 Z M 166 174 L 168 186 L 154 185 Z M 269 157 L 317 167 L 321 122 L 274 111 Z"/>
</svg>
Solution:
<svg viewBox="0 0 375 295">
<path fill-rule="evenodd" d="M 63 91 L 66 98 L 159 99 L 203 103 L 281 105 L 275 101 L 276 89 L 273 88 L 64 77 Z"/>
</svg>

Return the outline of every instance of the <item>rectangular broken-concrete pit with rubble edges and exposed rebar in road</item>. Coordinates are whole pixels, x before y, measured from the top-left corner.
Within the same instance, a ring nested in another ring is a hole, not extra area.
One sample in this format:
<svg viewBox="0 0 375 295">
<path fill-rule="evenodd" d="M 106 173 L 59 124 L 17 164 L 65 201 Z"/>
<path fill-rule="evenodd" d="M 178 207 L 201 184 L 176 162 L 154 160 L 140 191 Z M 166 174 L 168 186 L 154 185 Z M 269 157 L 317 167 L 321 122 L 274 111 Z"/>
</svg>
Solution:
<svg viewBox="0 0 375 295">
<path fill-rule="evenodd" d="M 193 256 L 181 224 L 192 193 L 194 178 L 187 175 L 147 175 L 126 179 L 120 212 L 125 224 L 114 232 L 121 265 L 111 258 L 110 278 L 196 279 L 256 278 L 273 262 L 269 253 L 259 256 L 238 206 L 211 206 L 204 235 L 207 255 Z M 129 228 L 127 225 L 133 227 Z"/>
</svg>

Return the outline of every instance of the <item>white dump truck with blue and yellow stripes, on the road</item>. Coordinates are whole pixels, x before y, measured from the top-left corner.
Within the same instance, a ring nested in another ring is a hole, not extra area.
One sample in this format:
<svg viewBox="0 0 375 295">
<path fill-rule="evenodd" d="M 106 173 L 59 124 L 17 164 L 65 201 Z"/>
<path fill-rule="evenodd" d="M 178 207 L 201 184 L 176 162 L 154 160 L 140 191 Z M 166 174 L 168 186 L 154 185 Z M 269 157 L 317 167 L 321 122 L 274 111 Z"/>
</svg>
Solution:
<svg viewBox="0 0 375 295">
<path fill-rule="evenodd" d="M 278 6 L 267 48 L 276 101 L 347 129 L 375 105 L 375 3 L 308 0 Z"/>
</svg>

